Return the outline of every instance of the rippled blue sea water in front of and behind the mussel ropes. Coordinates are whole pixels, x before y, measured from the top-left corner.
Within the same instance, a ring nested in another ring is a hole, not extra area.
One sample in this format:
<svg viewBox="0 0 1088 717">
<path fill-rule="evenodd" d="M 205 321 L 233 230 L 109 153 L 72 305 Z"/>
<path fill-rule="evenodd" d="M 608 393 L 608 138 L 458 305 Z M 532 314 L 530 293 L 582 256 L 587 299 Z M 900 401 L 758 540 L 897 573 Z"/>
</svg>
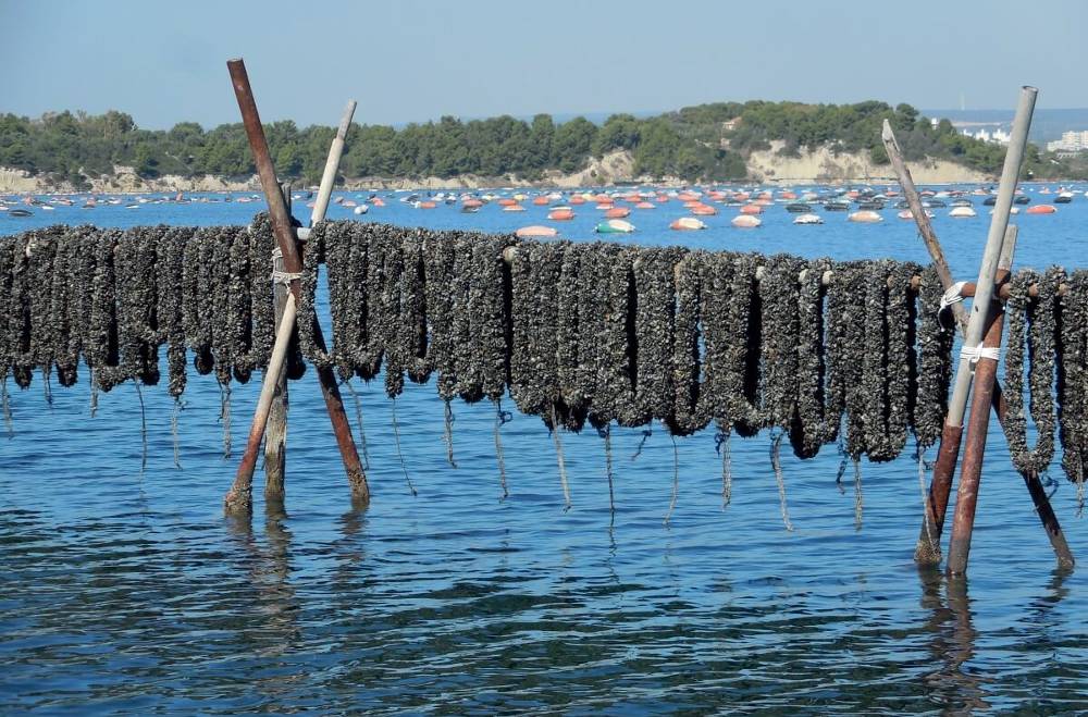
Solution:
<svg viewBox="0 0 1088 717">
<path fill-rule="evenodd" d="M 1033 203 L 1049 202 L 1028 185 Z M 1088 199 L 1021 214 L 1017 267 L 1085 265 Z M 492 203 L 386 207 L 331 219 L 509 232 L 546 208 Z M 238 196 L 238 195 L 235 195 Z M 337 193 L 361 201 L 366 194 Z M 124 203 L 128 203 L 126 198 Z M 51 223 L 99 226 L 248 223 L 263 203 L 140 203 L 136 209 L 0 212 L 0 234 Z M 989 215 L 935 226 L 953 272 L 974 281 Z M 634 210 L 645 245 L 927 261 L 913 222 L 668 231 L 676 200 Z M 601 212 L 576 208 L 562 235 L 593 239 Z M 308 210 L 296 201 L 304 223 Z M 783 450 L 783 524 L 771 436 L 727 446 L 731 500 L 714 431 L 672 440 L 561 433 L 557 446 L 489 401 L 454 404 L 446 459 L 433 382 L 388 400 L 355 383 L 373 500 L 354 508 L 314 372 L 290 384 L 286 512 L 224 518 L 259 392 L 233 385 L 224 458 L 221 392 L 190 371 L 183 410 L 164 386 L 124 384 L 89 416 L 87 372 L 73 388 L 40 376 L 12 388 L 14 434 L 0 436 L 0 713 L 21 714 L 1072 714 L 1088 709 L 1088 571 L 1053 554 L 1000 429 L 987 443 L 969 577 L 919 569 L 919 462 L 907 449 L 841 480 L 834 446 L 801 461 Z M 147 467 L 141 470 L 141 401 Z M 180 465 L 171 431 L 176 416 Z M 497 427 L 497 428 L 496 428 Z M 509 485 L 503 498 L 496 430 Z M 398 450 L 399 442 L 399 450 Z M 934 450 L 926 456 L 934 459 Z M 412 496 L 406 473 L 418 495 Z M 260 482 L 258 473 L 258 483 Z M 1055 465 L 1052 500 L 1088 564 L 1077 490 Z M 665 517 L 678 483 L 676 508 Z M 926 477 L 928 481 L 928 475 Z"/>
</svg>

